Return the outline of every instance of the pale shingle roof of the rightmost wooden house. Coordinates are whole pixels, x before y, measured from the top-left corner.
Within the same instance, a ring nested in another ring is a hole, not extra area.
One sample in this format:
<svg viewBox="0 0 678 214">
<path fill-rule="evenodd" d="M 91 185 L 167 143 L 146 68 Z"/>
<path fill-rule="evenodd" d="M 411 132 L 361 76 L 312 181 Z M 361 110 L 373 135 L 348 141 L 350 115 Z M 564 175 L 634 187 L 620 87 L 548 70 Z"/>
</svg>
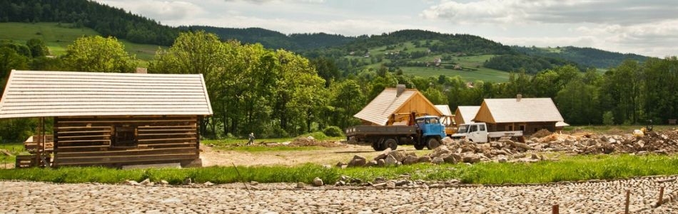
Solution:
<svg viewBox="0 0 678 214">
<path fill-rule="evenodd" d="M 495 122 L 560 122 L 560 112 L 551 98 L 485 99 Z"/>
</svg>

